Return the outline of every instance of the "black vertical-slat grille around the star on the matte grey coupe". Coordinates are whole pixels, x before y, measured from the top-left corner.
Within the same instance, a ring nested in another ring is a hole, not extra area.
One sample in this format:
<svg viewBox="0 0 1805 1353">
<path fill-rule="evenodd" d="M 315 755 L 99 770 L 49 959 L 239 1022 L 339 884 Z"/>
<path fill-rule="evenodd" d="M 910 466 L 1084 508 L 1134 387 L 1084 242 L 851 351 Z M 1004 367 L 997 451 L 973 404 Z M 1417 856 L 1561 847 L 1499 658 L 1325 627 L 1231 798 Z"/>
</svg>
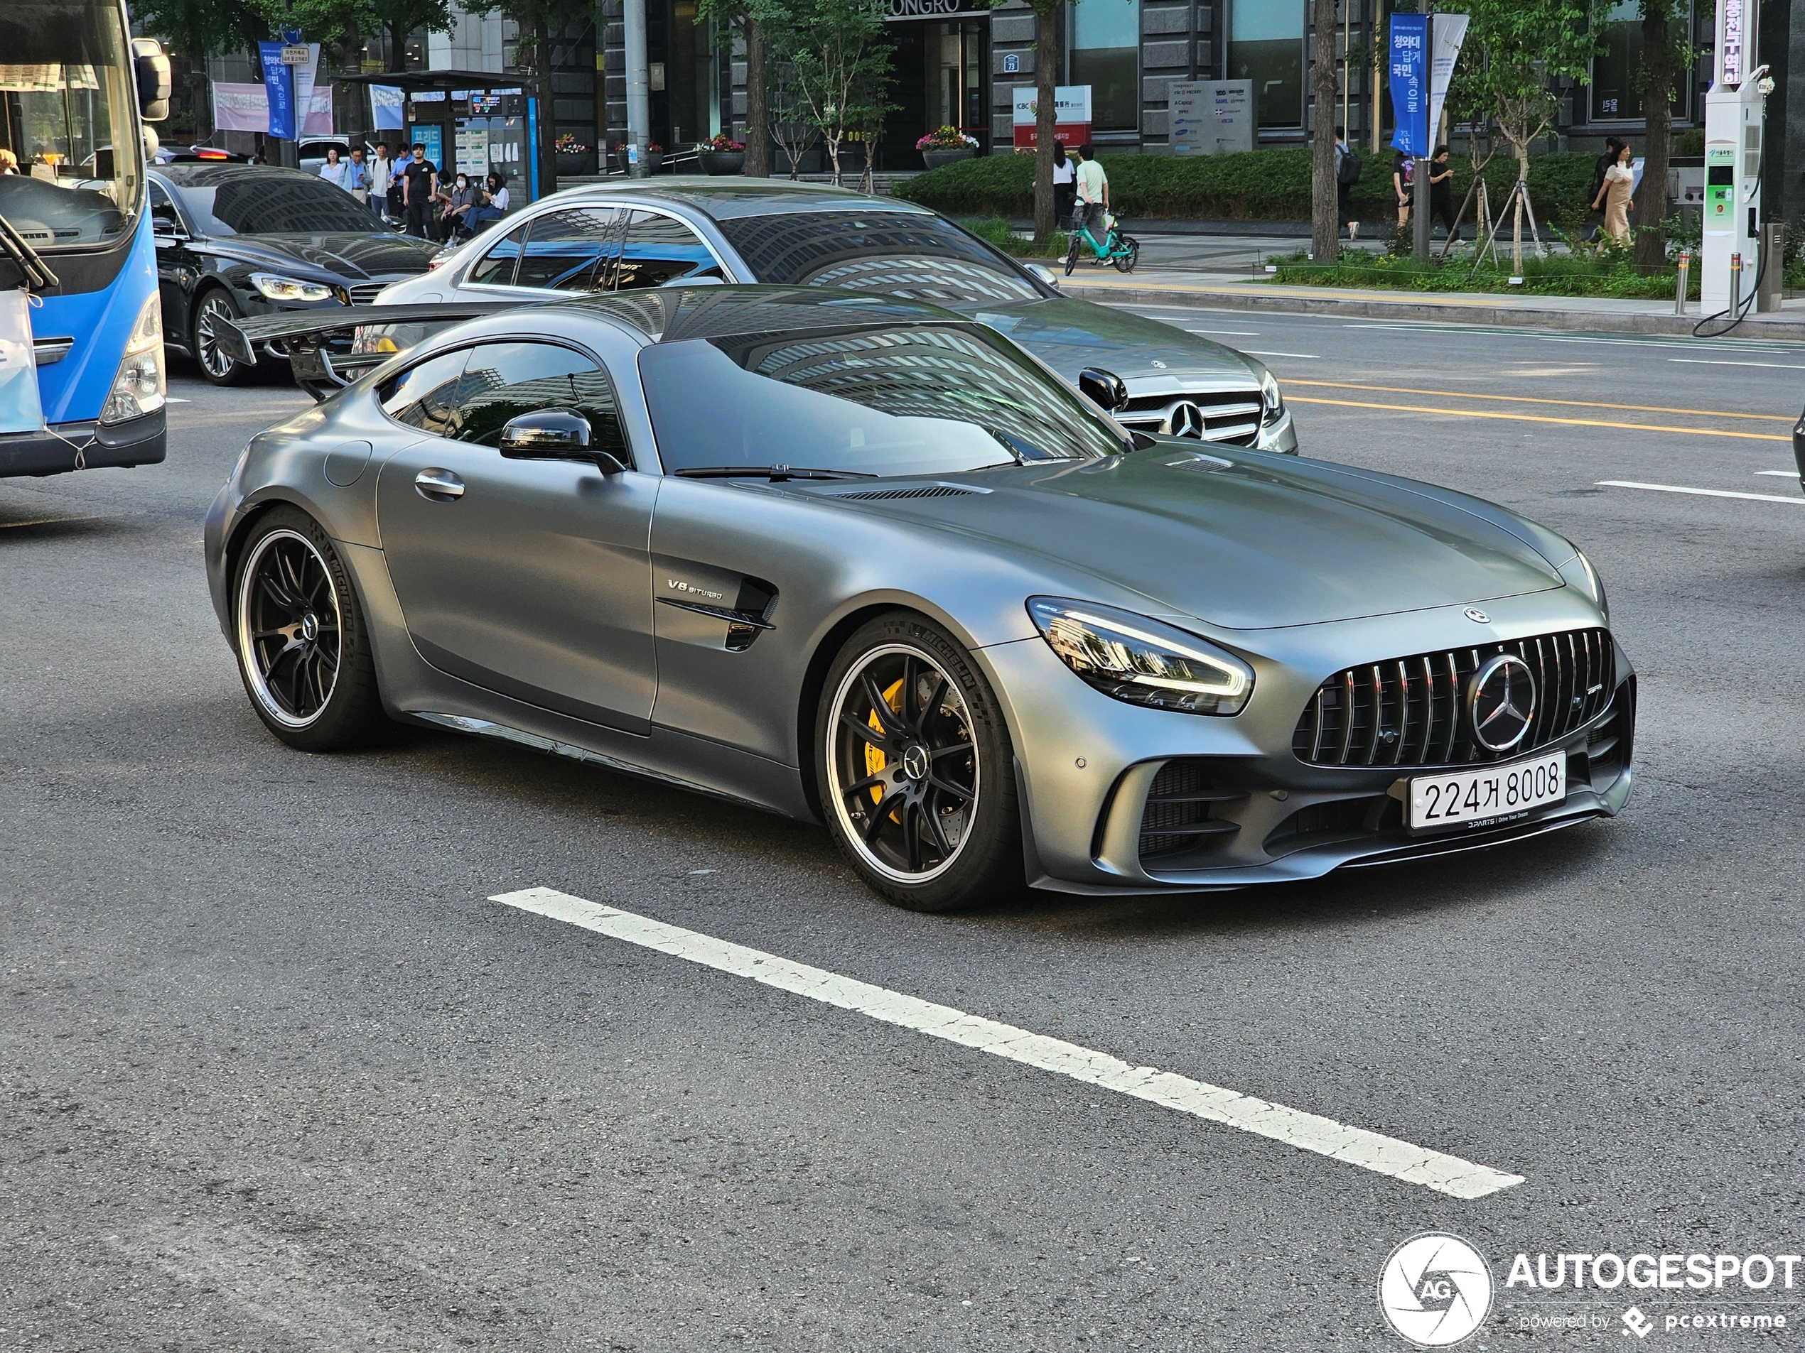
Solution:
<svg viewBox="0 0 1805 1353">
<path fill-rule="evenodd" d="M 1496 653 L 1529 664 L 1536 704 L 1529 732 L 1495 752 L 1473 736 L 1469 678 Z M 1585 727 L 1610 704 L 1615 648 L 1608 630 L 1569 630 L 1509 644 L 1415 653 L 1338 671 L 1298 720 L 1291 749 L 1309 765 L 1421 767 L 1504 761 Z"/>
</svg>

